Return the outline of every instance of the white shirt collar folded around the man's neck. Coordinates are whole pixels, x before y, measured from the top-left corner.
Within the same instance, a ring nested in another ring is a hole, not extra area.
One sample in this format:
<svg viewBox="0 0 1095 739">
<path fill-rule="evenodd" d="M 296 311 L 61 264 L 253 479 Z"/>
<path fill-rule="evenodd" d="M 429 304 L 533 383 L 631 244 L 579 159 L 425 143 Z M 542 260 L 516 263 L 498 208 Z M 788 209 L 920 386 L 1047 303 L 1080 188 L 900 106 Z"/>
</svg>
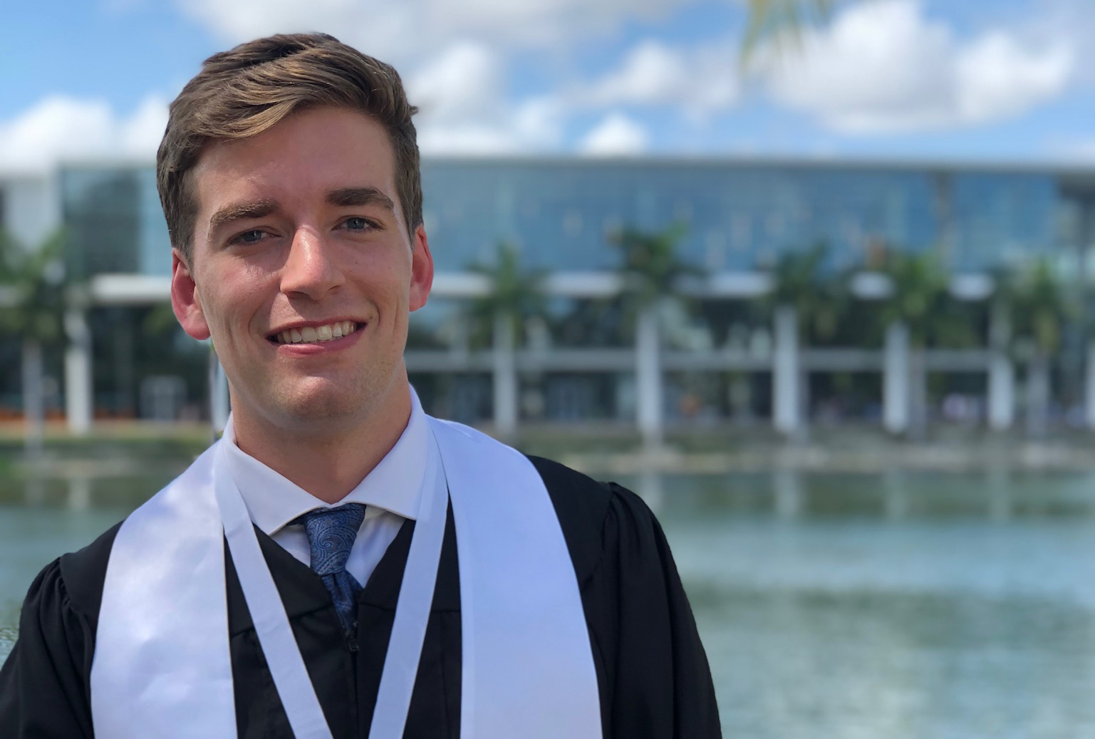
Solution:
<svg viewBox="0 0 1095 739">
<path fill-rule="evenodd" d="M 411 418 L 395 446 L 349 495 L 336 504 L 320 500 L 240 449 L 231 415 L 221 442 L 228 448 L 224 455 L 228 472 L 240 488 L 251 520 L 266 534 L 273 534 L 314 508 L 346 503 L 362 503 L 403 518 L 416 518 L 431 448 L 426 414 L 414 388 L 411 388 Z"/>
</svg>

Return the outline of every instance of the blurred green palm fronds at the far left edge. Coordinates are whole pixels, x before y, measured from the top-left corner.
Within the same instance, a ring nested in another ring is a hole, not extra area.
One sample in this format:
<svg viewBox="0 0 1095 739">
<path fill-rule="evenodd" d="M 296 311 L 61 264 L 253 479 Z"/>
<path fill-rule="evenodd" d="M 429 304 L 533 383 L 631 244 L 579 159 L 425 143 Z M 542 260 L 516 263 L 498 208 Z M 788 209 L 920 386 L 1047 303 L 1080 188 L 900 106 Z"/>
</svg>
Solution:
<svg viewBox="0 0 1095 739">
<path fill-rule="evenodd" d="M 64 232 L 38 249 L 0 233 L 0 331 L 50 345 L 65 338 Z"/>
</svg>

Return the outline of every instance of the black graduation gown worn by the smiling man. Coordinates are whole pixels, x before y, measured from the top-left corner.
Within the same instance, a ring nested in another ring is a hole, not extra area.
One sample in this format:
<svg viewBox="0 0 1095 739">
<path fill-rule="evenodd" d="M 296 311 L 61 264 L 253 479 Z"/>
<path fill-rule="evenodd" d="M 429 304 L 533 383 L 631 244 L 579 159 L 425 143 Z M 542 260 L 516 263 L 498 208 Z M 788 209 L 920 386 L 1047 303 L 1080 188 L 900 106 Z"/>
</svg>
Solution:
<svg viewBox="0 0 1095 739">
<path fill-rule="evenodd" d="M 581 590 L 604 737 L 721 737 L 707 659 L 661 528 L 646 505 L 531 458 L 562 524 Z M 358 601 L 356 644 L 323 582 L 265 534 L 263 554 L 334 737 L 367 737 L 414 523 L 407 521 Z M 27 593 L 0 669 L 0 737 L 90 739 L 89 676 L 117 527 L 48 565 Z M 226 549 L 227 553 L 227 549 Z M 231 558 L 228 608 L 239 736 L 291 738 Z M 451 510 L 404 737 L 459 739 L 460 585 Z M 110 739 L 101 737 L 100 739 Z"/>
</svg>

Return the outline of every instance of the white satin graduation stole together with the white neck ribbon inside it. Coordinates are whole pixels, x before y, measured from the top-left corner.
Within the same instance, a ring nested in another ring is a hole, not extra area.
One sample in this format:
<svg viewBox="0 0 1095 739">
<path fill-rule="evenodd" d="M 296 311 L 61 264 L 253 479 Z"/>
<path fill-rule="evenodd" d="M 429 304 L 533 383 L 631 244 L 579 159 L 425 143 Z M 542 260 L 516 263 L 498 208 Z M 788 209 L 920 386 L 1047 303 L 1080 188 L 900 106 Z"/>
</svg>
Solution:
<svg viewBox="0 0 1095 739">
<path fill-rule="evenodd" d="M 465 426 L 428 420 L 442 470 L 427 471 L 370 737 L 403 732 L 443 536 L 443 492 L 433 494 L 435 482 L 448 486 L 457 529 L 462 739 L 601 737 L 585 612 L 543 481 L 516 450 Z M 235 736 L 226 533 L 249 609 L 267 614 L 254 619 L 256 631 L 287 714 L 297 717 L 290 725 L 298 739 L 330 736 L 314 689 L 300 682 L 302 660 L 276 590 L 270 596 L 250 519 L 239 519 L 242 498 L 224 487 L 224 473 L 215 474 L 220 443 L 118 530 L 91 672 L 101 739 Z"/>
</svg>

